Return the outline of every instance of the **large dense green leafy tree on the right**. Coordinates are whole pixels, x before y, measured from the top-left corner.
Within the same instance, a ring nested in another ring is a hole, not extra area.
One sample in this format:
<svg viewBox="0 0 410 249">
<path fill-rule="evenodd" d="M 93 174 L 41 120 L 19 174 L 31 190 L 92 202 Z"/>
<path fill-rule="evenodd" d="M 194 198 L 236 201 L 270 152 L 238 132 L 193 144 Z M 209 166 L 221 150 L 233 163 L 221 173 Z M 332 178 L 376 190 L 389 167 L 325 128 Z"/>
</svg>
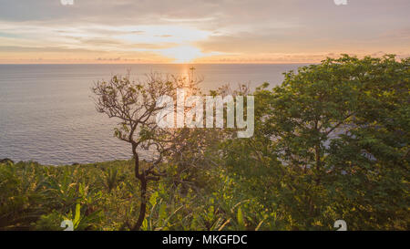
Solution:
<svg viewBox="0 0 410 249">
<path fill-rule="evenodd" d="M 255 93 L 255 136 L 225 142 L 277 229 L 408 229 L 409 59 L 343 56 Z"/>
</svg>

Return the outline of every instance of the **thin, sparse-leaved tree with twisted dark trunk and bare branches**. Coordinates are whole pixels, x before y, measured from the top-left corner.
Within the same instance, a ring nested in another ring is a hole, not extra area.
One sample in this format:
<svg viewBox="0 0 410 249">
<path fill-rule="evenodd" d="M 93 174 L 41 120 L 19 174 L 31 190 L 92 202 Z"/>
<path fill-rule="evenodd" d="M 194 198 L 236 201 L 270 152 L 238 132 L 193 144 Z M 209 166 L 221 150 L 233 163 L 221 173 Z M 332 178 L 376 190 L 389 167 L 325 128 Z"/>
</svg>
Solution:
<svg viewBox="0 0 410 249">
<path fill-rule="evenodd" d="M 176 99 L 177 88 L 198 89 L 199 82 L 200 79 L 193 78 L 193 74 L 175 77 L 156 73 L 147 75 L 142 81 L 131 81 L 128 72 L 125 77 L 114 76 L 109 81 L 98 81 L 92 88 L 97 96 L 97 111 L 107 114 L 109 118 L 117 118 L 119 122 L 115 136 L 131 145 L 141 198 L 138 221 L 130 226 L 132 230 L 139 230 L 145 219 L 147 184 L 149 181 L 159 181 L 164 174 L 159 169 L 159 163 L 178 137 L 175 130 L 159 128 L 155 118 L 164 107 L 157 107 L 157 101 L 165 95 Z M 139 167 L 140 149 L 154 150 L 157 154 L 156 159 L 144 169 Z"/>
</svg>

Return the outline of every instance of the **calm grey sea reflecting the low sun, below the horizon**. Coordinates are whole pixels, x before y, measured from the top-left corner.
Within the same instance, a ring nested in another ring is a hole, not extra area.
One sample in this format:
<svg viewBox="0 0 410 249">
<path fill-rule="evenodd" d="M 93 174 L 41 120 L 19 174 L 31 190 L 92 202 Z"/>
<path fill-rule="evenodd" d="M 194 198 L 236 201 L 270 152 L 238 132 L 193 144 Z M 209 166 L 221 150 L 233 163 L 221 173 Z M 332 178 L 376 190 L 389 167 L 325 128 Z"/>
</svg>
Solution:
<svg viewBox="0 0 410 249">
<path fill-rule="evenodd" d="M 194 65 L 201 88 L 263 82 L 302 65 Z M 129 159 L 113 137 L 114 120 L 97 113 L 90 88 L 99 79 L 149 72 L 186 74 L 192 65 L 0 65 L 0 159 L 61 165 Z"/>
</svg>

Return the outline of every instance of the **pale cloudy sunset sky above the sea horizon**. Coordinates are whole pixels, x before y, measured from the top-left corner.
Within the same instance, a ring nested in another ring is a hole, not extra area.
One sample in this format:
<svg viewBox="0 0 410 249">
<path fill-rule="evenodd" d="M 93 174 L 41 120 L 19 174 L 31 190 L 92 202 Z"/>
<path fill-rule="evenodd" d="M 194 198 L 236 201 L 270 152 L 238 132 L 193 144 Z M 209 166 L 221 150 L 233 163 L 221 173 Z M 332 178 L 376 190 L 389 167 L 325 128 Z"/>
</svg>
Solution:
<svg viewBox="0 0 410 249">
<path fill-rule="evenodd" d="M 0 63 L 410 55 L 409 0 L 0 0 Z M 68 3 L 68 5 L 67 5 Z"/>
</svg>

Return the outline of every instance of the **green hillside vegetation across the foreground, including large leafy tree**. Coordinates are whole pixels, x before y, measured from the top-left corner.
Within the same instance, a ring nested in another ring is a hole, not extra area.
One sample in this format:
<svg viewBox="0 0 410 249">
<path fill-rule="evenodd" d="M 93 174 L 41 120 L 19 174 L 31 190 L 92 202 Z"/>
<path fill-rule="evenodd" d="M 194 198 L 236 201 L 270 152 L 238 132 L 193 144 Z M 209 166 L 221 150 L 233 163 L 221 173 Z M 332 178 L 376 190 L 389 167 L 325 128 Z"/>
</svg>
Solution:
<svg viewBox="0 0 410 249">
<path fill-rule="evenodd" d="M 4 161 L 0 230 L 63 230 L 63 220 L 75 230 L 335 230 L 340 219 L 348 230 L 409 230 L 409 66 L 343 56 L 286 72 L 282 85 L 251 93 L 250 139 L 180 129 L 160 161 L 139 160 L 132 120 L 115 130 L 136 152 L 129 161 Z M 117 100 L 109 88 L 94 88 L 101 112 Z M 139 140 L 169 138 L 145 128 Z"/>
</svg>

